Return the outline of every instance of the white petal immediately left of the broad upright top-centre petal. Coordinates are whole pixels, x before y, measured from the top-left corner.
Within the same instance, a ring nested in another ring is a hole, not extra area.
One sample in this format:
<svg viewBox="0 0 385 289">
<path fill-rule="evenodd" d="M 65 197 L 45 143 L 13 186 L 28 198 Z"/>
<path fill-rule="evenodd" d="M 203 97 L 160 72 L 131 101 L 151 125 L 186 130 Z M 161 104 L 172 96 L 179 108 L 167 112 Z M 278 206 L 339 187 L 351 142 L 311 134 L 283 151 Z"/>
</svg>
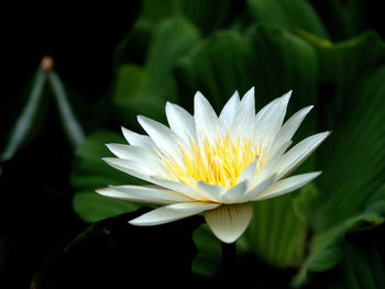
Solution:
<svg viewBox="0 0 385 289">
<path fill-rule="evenodd" d="M 185 109 L 174 103 L 167 102 L 166 115 L 169 127 L 180 137 L 186 144 L 189 144 L 189 137 L 197 140 L 195 132 L 195 121 L 191 114 Z"/>
</svg>

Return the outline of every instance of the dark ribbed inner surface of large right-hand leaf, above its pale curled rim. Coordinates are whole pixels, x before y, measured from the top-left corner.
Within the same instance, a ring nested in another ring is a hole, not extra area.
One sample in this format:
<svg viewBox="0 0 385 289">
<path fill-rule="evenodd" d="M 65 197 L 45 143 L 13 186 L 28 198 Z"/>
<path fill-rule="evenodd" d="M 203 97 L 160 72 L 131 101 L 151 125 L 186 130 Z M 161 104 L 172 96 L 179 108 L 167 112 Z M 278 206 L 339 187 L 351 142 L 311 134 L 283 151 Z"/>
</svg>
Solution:
<svg viewBox="0 0 385 289">
<path fill-rule="evenodd" d="M 318 151 L 322 198 L 312 223 L 317 231 L 360 212 L 385 174 L 385 66 L 366 73 L 345 92 L 344 105 L 331 124 L 332 135 Z M 365 97 L 363 97 L 365 96 Z"/>
</svg>

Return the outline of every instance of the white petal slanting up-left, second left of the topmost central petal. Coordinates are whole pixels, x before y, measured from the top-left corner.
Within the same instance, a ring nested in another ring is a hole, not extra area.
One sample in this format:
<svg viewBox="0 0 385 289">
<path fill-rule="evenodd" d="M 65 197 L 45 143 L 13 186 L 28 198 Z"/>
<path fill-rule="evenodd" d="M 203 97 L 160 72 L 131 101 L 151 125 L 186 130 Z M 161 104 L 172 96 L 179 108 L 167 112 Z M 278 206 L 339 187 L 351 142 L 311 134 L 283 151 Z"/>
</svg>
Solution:
<svg viewBox="0 0 385 289">
<path fill-rule="evenodd" d="M 183 156 L 179 144 L 183 141 L 169 127 L 143 115 L 139 115 L 138 121 L 161 152 L 166 154 L 167 157 L 182 163 Z"/>
</svg>

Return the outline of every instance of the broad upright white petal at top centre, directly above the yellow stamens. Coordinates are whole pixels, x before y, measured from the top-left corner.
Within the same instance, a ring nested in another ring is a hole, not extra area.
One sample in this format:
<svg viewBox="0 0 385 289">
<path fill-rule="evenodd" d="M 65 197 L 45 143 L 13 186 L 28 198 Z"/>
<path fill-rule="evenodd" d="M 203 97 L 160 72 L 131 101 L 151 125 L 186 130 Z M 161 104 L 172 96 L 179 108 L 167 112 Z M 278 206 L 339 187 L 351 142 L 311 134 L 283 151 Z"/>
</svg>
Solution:
<svg viewBox="0 0 385 289">
<path fill-rule="evenodd" d="M 194 119 L 200 144 L 206 138 L 213 143 L 219 134 L 219 120 L 209 101 L 199 91 L 194 98 Z"/>
</svg>

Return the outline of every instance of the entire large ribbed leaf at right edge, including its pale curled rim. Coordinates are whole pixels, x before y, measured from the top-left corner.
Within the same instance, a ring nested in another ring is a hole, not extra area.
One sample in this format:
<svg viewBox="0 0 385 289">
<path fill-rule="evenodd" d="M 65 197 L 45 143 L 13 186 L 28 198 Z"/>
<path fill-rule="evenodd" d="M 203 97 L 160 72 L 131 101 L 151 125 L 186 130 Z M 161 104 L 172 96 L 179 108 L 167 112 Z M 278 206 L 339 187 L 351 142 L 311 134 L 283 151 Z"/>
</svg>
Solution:
<svg viewBox="0 0 385 289">
<path fill-rule="evenodd" d="M 318 181 L 320 198 L 310 214 L 316 234 L 295 280 L 298 286 L 309 271 L 324 271 L 341 262 L 348 233 L 384 223 L 384 79 L 385 66 L 364 75 L 348 91 L 333 136 L 319 152 L 326 174 Z"/>
</svg>

